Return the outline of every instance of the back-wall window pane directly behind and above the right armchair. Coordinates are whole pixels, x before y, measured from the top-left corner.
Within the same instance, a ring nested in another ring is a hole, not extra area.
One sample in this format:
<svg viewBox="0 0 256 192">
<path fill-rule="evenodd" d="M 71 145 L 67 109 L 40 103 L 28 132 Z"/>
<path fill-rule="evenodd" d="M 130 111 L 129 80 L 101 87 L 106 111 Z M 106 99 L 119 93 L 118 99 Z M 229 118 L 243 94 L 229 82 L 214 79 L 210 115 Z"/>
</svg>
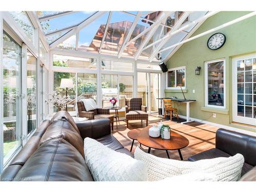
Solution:
<svg viewBox="0 0 256 192">
<path fill-rule="evenodd" d="M 125 107 L 125 98 L 133 97 L 133 76 L 119 76 L 119 106 Z"/>
</svg>

